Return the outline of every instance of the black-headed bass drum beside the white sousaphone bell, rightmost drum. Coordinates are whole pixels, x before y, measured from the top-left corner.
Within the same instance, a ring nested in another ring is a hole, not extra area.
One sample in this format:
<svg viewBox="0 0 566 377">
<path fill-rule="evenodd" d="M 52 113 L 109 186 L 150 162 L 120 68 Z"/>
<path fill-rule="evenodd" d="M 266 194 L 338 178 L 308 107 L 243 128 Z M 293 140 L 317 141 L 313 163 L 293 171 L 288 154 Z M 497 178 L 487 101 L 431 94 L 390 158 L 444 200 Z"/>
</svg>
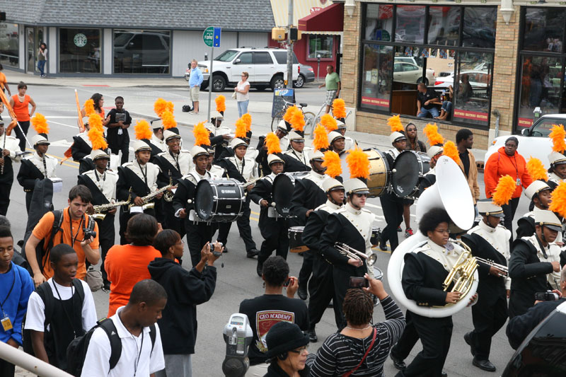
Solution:
<svg viewBox="0 0 566 377">
<path fill-rule="evenodd" d="M 426 153 L 403 151 L 395 158 L 391 171 L 391 185 L 398 197 L 418 197 L 421 178 L 430 170 Z"/>
</svg>

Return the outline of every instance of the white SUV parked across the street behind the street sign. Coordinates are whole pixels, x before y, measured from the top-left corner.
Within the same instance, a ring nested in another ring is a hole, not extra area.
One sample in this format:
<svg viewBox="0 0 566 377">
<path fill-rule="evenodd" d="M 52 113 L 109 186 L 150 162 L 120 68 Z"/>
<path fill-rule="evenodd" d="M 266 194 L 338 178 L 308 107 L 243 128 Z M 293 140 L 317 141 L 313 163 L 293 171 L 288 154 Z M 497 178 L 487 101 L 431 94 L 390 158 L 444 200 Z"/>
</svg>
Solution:
<svg viewBox="0 0 566 377">
<path fill-rule="evenodd" d="M 201 89 L 208 87 L 210 61 L 199 62 L 204 81 Z M 263 90 L 284 87 L 284 72 L 287 71 L 287 50 L 275 48 L 243 47 L 222 52 L 214 58 L 212 66 L 212 90 L 224 91 L 226 86 L 236 86 L 242 72 L 250 75 L 248 81 L 252 88 Z M 293 54 L 293 81 L 299 77 L 299 61 Z"/>
</svg>

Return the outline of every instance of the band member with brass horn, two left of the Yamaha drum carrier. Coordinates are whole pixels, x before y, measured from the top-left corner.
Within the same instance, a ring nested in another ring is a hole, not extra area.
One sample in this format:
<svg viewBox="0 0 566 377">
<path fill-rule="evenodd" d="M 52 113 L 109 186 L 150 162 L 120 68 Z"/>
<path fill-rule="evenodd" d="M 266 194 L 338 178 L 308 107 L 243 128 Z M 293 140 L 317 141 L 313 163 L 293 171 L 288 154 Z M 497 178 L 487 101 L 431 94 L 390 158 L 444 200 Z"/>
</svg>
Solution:
<svg viewBox="0 0 566 377">
<path fill-rule="evenodd" d="M 155 199 L 161 199 L 163 192 L 152 199 L 149 206 L 144 206 L 144 197 L 157 190 L 157 175 L 161 171 L 157 165 L 149 162 L 151 146 L 143 139 L 149 139 L 151 130 L 145 120 L 139 121 L 134 127 L 137 141 L 134 141 L 134 160 L 118 168 L 117 199 L 120 202 L 132 195 L 129 206 L 120 208 L 120 244 L 125 245 L 125 231 L 128 220 L 133 214 L 143 212 L 156 216 Z M 132 189 L 131 191 L 129 189 Z M 133 204 L 133 205 L 132 205 Z M 153 206 L 151 205 L 153 204 Z M 146 207 L 146 208 L 144 208 Z"/>
</svg>

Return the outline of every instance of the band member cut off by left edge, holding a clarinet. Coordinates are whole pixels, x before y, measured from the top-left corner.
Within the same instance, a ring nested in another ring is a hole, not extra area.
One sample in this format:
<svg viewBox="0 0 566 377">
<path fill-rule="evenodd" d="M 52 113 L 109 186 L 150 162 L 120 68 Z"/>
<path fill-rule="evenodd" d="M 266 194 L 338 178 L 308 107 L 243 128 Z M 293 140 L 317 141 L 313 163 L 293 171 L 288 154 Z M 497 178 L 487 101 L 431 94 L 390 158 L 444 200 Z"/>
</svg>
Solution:
<svg viewBox="0 0 566 377">
<path fill-rule="evenodd" d="M 6 216 L 10 205 L 13 184 L 13 163 L 20 162 L 22 155 L 18 139 L 6 135 L 4 121 L 0 120 L 0 215 Z"/>
</svg>

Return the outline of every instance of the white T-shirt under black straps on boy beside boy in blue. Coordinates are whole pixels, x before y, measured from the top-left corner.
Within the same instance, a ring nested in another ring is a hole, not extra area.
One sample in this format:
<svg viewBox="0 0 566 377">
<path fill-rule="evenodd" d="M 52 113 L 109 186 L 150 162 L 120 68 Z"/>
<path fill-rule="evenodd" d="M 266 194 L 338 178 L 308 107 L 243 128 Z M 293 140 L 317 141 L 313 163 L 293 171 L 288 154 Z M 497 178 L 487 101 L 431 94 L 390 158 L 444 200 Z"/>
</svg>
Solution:
<svg viewBox="0 0 566 377">
<path fill-rule="evenodd" d="M 75 293 L 74 286 L 62 286 L 57 284 L 53 278 L 47 280 L 51 291 L 53 292 L 53 297 L 59 300 L 59 294 L 63 301 L 69 300 L 71 296 Z M 96 308 L 94 307 L 94 299 L 91 289 L 88 287 L 85 281 L 81 280 L 84 290 L 84 301 L 83 301 L 83 311 L 81 312 L 81 322 L 83 323 L 83 330 L 91 330 L 92 327 L 96 325 Z M 55 291 L 55 286 L 57 285 L 57 291 Z M 25 318 L 24 328 L 26 330 L 35 330 L 43 332 L 45 329 L 43 327 L 45 323 L 45 303 L 41 299 L 37 292 L 32 292 L 30 295 L 30 300 L 28 301 L 28 314 Z M 70 325 L 70 324 L 69 324 Z M 50 326 L 47 325 L 47 330 L 50 330 Z"/>
</svg>

